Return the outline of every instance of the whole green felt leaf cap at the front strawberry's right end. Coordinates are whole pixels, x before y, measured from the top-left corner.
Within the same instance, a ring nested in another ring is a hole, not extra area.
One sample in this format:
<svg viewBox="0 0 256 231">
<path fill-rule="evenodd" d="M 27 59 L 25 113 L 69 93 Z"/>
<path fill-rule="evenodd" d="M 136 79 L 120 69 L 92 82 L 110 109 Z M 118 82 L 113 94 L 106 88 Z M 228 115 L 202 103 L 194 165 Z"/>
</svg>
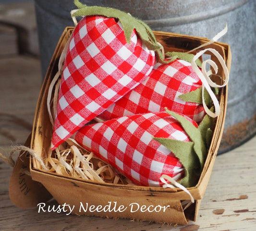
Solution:
<svg viewBox="0 0 256 231">
<path fill-rule="evenodd" d="M 156 137 L 153 139 L 157 140 L 159 143 L 171 150 L 183 164 L 185 175 L 179 183 L 185 187 L 195 186 L 203 170 L 207 157 L 206 144 L 209 145 L 211 141 L 211 127 L 213 126 L 214 121 L 209 116 L 205 116 L 201 122 L 202 124 L 196 128 L 193 123 L 188 121 L 183 116 L 171 112 L 167 108 L 165 109 L 169 115 L 177 119 L 192 141 L 185 142 L 175 139 Z"/>
</svg>

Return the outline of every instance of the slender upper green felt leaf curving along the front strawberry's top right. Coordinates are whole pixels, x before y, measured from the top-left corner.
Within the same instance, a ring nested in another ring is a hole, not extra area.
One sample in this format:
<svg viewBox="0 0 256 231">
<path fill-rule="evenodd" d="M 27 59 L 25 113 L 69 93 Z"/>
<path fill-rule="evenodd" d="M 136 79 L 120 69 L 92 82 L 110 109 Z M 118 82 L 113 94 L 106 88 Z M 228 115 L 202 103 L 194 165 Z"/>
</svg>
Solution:
<svg viewBox="0 0 256 231">
<path fill-rule="evenodd" d="M 200 133 L 200 130 L 197 129 L 189 120 L 187 120 L 183 116 L 177 113 L 171 112 L 167 108 L 166 108 L 166 112 L 169 115 L 173 116 L 175 119 L 177 119 L 177 121 L 182 125 L 184 131 L 187 133 L 189 138 L 194 142 L 194 150 L 199 159 L 201 170 L 202 170 L 204 167 L 206 156 L 207 156 L 207 149 L 205 146 L 204 139 Z"/>
</svg>

